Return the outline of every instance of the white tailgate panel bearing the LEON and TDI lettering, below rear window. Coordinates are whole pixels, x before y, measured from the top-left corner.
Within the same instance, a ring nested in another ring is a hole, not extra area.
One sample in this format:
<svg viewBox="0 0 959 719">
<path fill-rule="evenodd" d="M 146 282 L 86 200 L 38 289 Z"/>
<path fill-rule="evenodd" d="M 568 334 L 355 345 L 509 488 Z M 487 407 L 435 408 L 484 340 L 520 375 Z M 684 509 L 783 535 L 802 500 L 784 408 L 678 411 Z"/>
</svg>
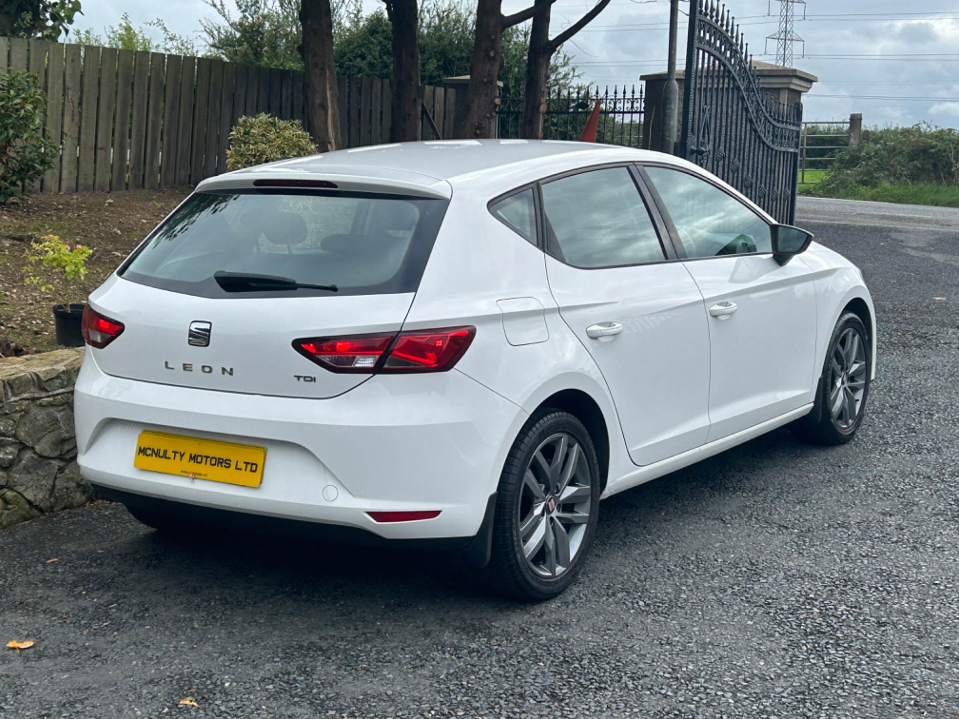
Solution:
<svg viewBox="0 0 959 719">
<path fill-rule="evenodd" d="M 399 331 L 413 293 L 338 297 L 196 297 L 139 285 L 112 275 L 90 295 L 90 307 L 122 316 L 135 353 L 89 348 L 116 377 L 278 397 L 326 399 L 368 375 L 334 374 L 292 352 L 297 337 Z M 159 311 L 158 311 L 159 310 Z M 211 322 L 210 345 L 183 341 L 193 320 Z M 296 382 L 295 376 L 315 378 Z"/>
</svg>

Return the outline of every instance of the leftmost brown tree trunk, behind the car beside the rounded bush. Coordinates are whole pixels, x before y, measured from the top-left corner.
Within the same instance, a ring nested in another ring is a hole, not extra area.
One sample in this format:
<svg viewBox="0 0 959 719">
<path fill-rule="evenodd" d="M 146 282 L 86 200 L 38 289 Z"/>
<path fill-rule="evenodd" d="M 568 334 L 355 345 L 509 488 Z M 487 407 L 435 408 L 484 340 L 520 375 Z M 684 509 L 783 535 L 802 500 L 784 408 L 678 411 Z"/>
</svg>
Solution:
<svg viewBox="0 0 959 719">
<path fill-rule="evenodd" d="M 306 114 L 310 136 L 320 152 L 341 147 L 337 66 L 333 59 L 333 16 L 330 0 L 303 0 L 303 66 L 306 72 Z"/>
</svg>

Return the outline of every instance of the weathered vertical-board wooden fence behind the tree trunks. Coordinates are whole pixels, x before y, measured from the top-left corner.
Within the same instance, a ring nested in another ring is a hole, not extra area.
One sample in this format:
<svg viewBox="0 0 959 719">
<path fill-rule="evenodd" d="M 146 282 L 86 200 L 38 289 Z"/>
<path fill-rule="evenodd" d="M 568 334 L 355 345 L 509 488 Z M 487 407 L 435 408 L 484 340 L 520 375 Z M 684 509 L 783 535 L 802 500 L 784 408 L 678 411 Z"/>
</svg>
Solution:
<svg viewBox="0 0 959 719">
<path fill-rule="evenodd" d="M 306 127 L 299 71 L 0 37 L 0 73 L 8 67 L 39 77 L 47 93 L 44 124 L 60 148 L 35 191 L 195 185 L 225 172 L 239 117 L 269 112 Z M 455 95 L 452 88 L 424 88 L 424 111 L 444 137 L 453 136 Z M 388 142 L 390 103 L 389 81 L 339 78 L 341 144 Z M 424 121 L 423 138 L 434 136 Z"/>
</svg>

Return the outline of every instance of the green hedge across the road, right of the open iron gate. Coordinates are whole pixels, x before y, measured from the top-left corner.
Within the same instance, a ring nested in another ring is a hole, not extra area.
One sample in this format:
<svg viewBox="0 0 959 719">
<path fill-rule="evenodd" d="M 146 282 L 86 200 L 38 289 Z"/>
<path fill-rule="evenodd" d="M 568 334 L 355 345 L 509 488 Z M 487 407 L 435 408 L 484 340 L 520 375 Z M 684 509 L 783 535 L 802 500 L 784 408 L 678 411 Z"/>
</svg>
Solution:
<svg viewBox="0 0 959 719">
<path fill-rule="evenodd" d="M 853 186 L 959 182 L 959 131 L 925 123 L 870 130 L 855 150 L 840 151 L 816 194 Z"/>
</svg>

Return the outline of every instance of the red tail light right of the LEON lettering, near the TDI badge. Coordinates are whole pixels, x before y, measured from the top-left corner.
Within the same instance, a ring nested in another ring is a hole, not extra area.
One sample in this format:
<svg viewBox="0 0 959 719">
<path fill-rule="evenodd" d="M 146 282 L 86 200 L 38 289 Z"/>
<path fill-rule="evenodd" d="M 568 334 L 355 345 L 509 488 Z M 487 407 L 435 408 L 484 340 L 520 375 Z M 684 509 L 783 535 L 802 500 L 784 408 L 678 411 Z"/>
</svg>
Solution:
<svg viewBox="0 0 959 719">
<path fill-rule="evenodd" d="M 331 372 L 446 372 L 463 356 L 476 327 L 293 340 L 293 349 Z"/>
</svg>

